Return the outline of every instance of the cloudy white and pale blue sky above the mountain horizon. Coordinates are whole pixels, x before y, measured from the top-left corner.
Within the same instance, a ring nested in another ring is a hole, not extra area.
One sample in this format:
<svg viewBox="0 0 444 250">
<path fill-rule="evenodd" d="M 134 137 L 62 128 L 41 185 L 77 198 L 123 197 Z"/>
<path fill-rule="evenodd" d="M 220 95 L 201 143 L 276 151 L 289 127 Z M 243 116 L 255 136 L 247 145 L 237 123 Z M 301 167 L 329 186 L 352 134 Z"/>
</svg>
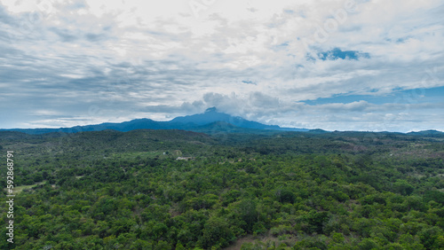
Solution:
<svg viewBox="0 0 444 250">
<path fill-rule="evenodd" d="M 282 127 L 444 131 L 441 0 L 0 0 L 0 128 L 216 106 Z"/>
</svg>

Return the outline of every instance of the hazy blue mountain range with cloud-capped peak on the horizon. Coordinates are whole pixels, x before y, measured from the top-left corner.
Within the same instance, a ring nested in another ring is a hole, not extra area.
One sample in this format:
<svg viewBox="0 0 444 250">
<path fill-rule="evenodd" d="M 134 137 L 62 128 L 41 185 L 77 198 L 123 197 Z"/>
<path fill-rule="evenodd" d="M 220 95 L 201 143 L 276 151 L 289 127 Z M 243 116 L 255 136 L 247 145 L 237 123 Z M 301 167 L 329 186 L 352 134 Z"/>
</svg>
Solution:
<svg viewBox="0 0 444 250">
<path fill-rule="evenodd" d="M 281 128 L 277 125 L 266 125 L 257 121 L 248 121 L 239 116 L 220 113 L 216 107 L 208 108 L 204 113 L 179 116 L 171 121 L 153 121 L 151 119 L 136 119 L 121 123 L 101 123 L 97 125 L 75 126 L 59 129 L 0 129 L 20 131 L 27 134 L 45 134 L 52 132 L 76 133 L 83 131 L 101 131 L 114 129 L 117 131 L 131 131 L 134 129 L 183 129 L 208 134 L 253 133 L 262 134 L 271 131 L 308 131 L 309 129 Z"/>
</svg>

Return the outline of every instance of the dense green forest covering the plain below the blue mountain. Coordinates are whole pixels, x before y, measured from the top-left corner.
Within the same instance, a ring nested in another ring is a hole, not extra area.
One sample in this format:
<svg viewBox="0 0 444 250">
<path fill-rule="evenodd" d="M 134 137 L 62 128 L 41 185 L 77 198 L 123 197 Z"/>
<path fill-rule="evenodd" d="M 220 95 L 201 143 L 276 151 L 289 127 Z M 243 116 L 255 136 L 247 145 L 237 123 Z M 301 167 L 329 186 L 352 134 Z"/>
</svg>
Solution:
<svg viewBox="0 0 444 250">
<path fill-rule="evenodd" d="M 2 131 L 0 149 L 0 249 L 444 249 L 440 135 Z"/>
</svg>

